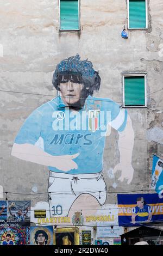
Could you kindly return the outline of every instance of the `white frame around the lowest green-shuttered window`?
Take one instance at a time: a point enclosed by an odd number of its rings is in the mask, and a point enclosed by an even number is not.
[[[124,78],[131,76],[144,76],[145,77],[145,105],[144,106],[125,106],[124,98]],[[147,107],[147,72],[142,73],[123,73],[123,106],[124,108],[144,108]]]

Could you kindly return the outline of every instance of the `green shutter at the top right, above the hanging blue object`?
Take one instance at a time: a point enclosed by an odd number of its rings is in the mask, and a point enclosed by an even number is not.
[[[129,0],[129,28],[146,27],[146,0]]]

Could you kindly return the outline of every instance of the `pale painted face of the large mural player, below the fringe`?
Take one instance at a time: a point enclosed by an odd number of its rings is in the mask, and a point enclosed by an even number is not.
[[[82,97],[83,84],[68,81],[67,83],[60,84],[60,92],[62,100],[68,106],[80,107],[80,98]]]

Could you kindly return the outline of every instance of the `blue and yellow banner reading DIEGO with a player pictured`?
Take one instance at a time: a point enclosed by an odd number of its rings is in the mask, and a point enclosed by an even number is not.
[[[158,194],[118,194],[120,226],[139,226],[163,221],[163,199]]]

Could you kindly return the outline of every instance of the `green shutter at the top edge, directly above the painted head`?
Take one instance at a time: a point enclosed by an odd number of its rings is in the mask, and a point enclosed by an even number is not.
[[[79,30],[78,0],[60,0],[60,30]]]

